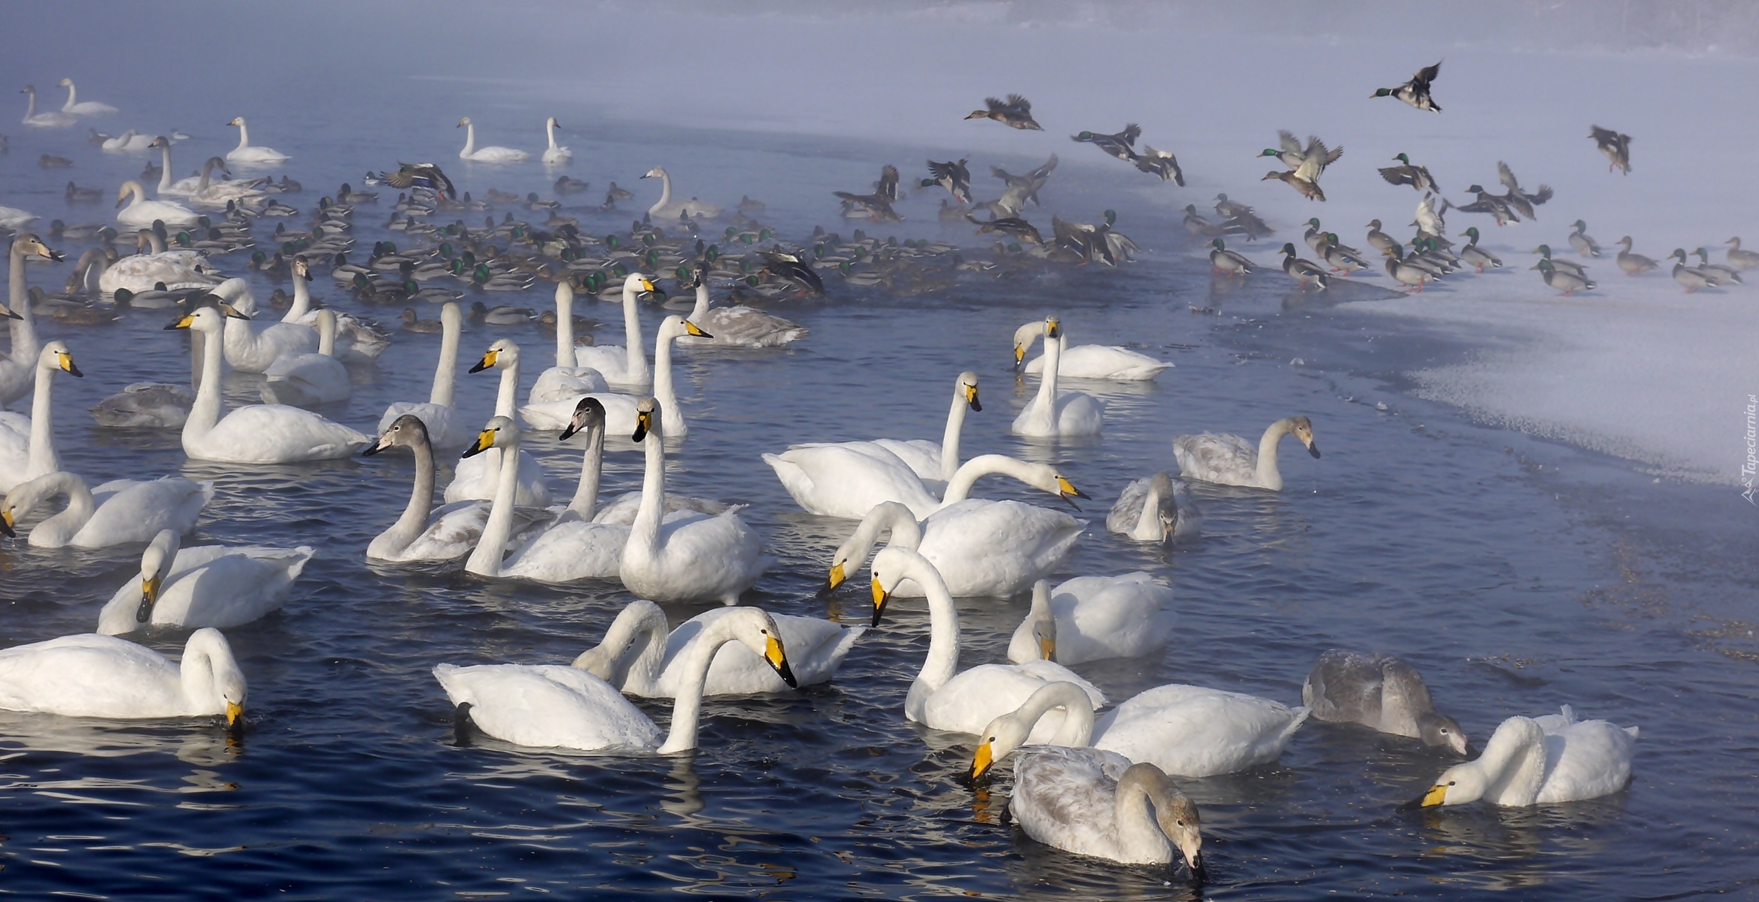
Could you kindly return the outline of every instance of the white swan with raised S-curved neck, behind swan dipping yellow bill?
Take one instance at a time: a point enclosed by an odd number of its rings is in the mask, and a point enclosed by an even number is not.
[[[911,549],[892,547],[874,556],[874,626],[880,626],[894,591],[906,580],[920,586],[929,598],[929,656],[904,696],[904,717],[909,721],[936,730],[976,733],[999,714],[1018,709],[1047,682],[1071,682],[1087,693],[1092,707],[1105,705],[1099,689],[1050,661],[978,665],[960,673],[959,605],[934,564]],[[1036,740],[1050,740],[1061,723],[1061,717],[1047,716],[1034,733]]]

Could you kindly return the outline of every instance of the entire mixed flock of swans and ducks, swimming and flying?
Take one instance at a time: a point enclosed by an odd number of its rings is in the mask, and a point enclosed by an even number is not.
[[[1398,97],[1416,109],[1439,111],[1428,67],[1398,88],[1376,97]],[[70,81],[60,113],[35,113],[35,93],[25,125],[65,128],[79,116],[113,113],[76,104]],[[973,120],[1011,128],[1041,130],[1031,104],[1011,95],[990,98]],[[281,176],[230,179],[229,164],[276,165],[285,155],[250,144],[243,118],[239,146],[213,158],[193,181],[172,181],[171,137],[153,137],[158,199],[148,199],[144,181],[128,181],[118,195],[127,202],[116,222],[137,241],[134,255],[120,255],[121,237],[109,225],[70,227],[56,222],[49,239],[19,230],[11,243],[9,304],[11,355],[0,360],[0,403],[32,397],[30,415],[0,413],[0,529],[25,533],[33,547],[118,549],[141,552],[137,580],[116,589],[97,617],[97,631],[0,651],[0,707],[81,717],[211,717],[239,724],[246,703],[245,673],[220,629],[264,617],[288,598],[311,547],[183,547],[215,487],[181,476],[113,480],[100,485],[62,468],[53,441],[53,385],[83,378],[69,341],[39,341],[35,316],[63,324],[102,322],[127,309],[165,309],[165,329],[192,336],[190,383],[135,383],[93,408],[106,427],[179,429],[193,461],[229,466],[290,464],[406,450],[415,461],[408,506],[364,549],[383,563],[463,561],[463,570],[491,580],[621,580],[637,596],[605,628],[603,640],[572,663],[436,663],[433,673],[447,700],[484,733],[517,746],[591,751],[679,753],[697,746],[704,696],[781,693],[834,679],[864,628],[844,628],[820,617],[783,615],[739,607],[774,563],[765,542],[739,515],[739,506],[677,492],[668,485],[667,455],[688,434],[686,408],[672,376],[679,348],[781,348],[807,338],[806,329],[763,309],[742,304],[714,306],[711,287],[732,285],[735,301],[786,301],[823,294],[827,276],[851,285],[888,285],[899,292],[948,285],[948,271],[1001,274],[1043,260],[1117,266],[1135,243],[1112,227],[1108,211],[1099,225],[1054,220],[1045,241],[1022,216],[1036,202],[1057,160],[1025,176],[996,169],[1006,192],[994,202],[973,202],[967,160],[929,164],[922,186],[943,186],[955,202],[952,222],[969,220],[980,234],[997,232],[990,258],[971,258],[948,243],[880,241],[860,230],[853,239],[814,230],[785,250],[774,230],[756,216],[763,206],[742,199],[725,211],[712,204],[674,197],[670,174],[653,169],[644,178],[661,183],[660,200],[626,232],[591,236],[577,218],[563,216],[556,200],[535,193],[493,197],[459,195],[442,167],[399,164],[368,174],[366,188],[343,185],[318,202],[311,227],[292,230],[283,222],[264,236],[257,222],[288,216],[278,200],[301,190]],[[466,128],[461,158],[471,162],[526,162],[533,155],[510,148],[477,146],[475,123]],[[544,164],[565,165],[568,148],[556,144],[558,121],[549,118]],[[1601,132],[1597,128],[1597,132]],[[1084,130],[1112,156],[1135,164],[1163,181],[1184,185],[1171,153],[1138,153],[1140,127],[1120,134]],[[137,135],[135,135],[137,137]],[[130,139],[132,141],[132,139]],[[1597,139],[1608,156],[1629,171],[1629,137]],[[1608,144],[1609,142],[1609,144]],[[1615,153],[1617,151],[1617,153]],[[1300,144],[1284,132],[1281,149],[1265,149],[1288,167],[1272,172],[1302,195],[1323,200],[1319,178],[1342,148],[1319,139]],[[1369,241],[1388,260],[1388,273],[1420,290],[1458,266],[1479,271],[1500,266],[1471,244],[1451,253],[1441,218],[1446,200],[1430,172],[1398,156],[1383,169],[1388,183],[1425,193],[1418,207],[1418,234],[1398,241],[1376,222]],[[1551,192],[1525,192],[1506,167],[1504,195],[1474,186],[1478,200],[1455,209],[1488,213],[1499,223],[1532,216]],[[218,174],[218,178],[216,178]],[[419,248],[378,243],[364,264],[348,262],[352,218],[375,204],[368,188],[389,186],[398,195],[387,223]],[[851,220],[897,218],[899,172],[885,167],[869,193],[837,192]],[[74,186],[70,186],[72,190]],[[556,193],[577,193],[586,183],[561,176]],[[633,195],[607,192],[598,211],[616,211]],[[188,200],[185,206],[179,200]],[[491,209],[491,204],[545,213],[544,222],[487,218],[482,229],[452,213]],[[943,202],[943,207],[948,204]],[[4,207],[0,207],[4,209]],[[209,213],[197,213],[206,209]],[[987,209],[989,220],[974,211]],[[1186,227],[1212,239],[1210,260],[1223,273],[1251,273],[1251,260],[1226,248],[1226,237],[1256,239],[1272,229],[1242,204],[1221,195],[1221,220],[1187,207]],[[297,213],[297,211],[296,211]],[[730,218],[723,232],[711,222]],[[23,229],[30,220],[9,220]],[[700,237],[698,237],[700,236]],[[705,237],[714,237],[709,244]],[[1010,241],[1011,239],[1011,241]],[[1332,274],[1367,269],[1365,258],[1339,243],[1335,232],[1309,220],[1307,244],[1325,266],[1298,258],[1284,244],[1284,271],[1302,285],[1323,288]],[[49,295],[28,285],[28,264],[62,260],[49,241],[91,244],[69,288]],[[725,248],[721,246],[725,243]],[[758,243],[774,243],[756,250]],[[1731,269],[1754,266],[1738,241]],[[1411,253],[1405,253],[1405,248]],[[1597,244],[1576,223],[1571,246],[1594,255]],[[1655,262],[1639,258],[1622,269],[1638,274]],[[294,294],[276,292],[259,302],[245,278],[227,278],[222,260],[250,251],[248,269],[290,278]],[[1541,248],[1544,251],[1544,248]],[[1683,251],[1676,251],[1682,258]],[[376,429],[364,433],[334,422],[317,410],[348,397],[350,366],[375,366],[390,332],[366,315],[320,306],[310,281],[329,267],[338,288],[362,306],[436,302],[438,322],[413,308],[403,315],[412,332],[438,332],[440,348],[429,396],[390,404]],[[1537,264],[1553,287],[1592,287],[1580,267],[1546,258]],[[1712,276],[1703,267],[1689,267]],[[663,276],[665,274],[665,276]],[[661,281],[675,278],[688,301],[675,306],[649,336],[642,329],[644,301],[665,299]],[[1680,267],[1675,271],[1680,280]],[[1569,281],[1576,280],[1576,281]],[[536,318],[514,306],[471,313],[461,308],[464,292],[524,290],[554,283],[554,364],[526,389],[522,348],[510,338],[471,355],[470,373],[494,373],[498,392],[493,415],[461,410],[454,385],[461,360],[463,324],[468,316],[491,324]],[[1580,285],[1578,285],[1580,281]],[[1682,283],[1690,290],[1692,285]],[[450,287],[449,287],[450,285]],[[1574,285],[1574,288],[1571,288]],[[575,316],[580,294],[616,301],[623,309],[623,345],[579,343],[577,331],[591,324]],[[285,304],[278,320],[264,306]],[[97,311],[74,313],[74,311]],[[549,315],[551,311],[545,311]],[[99,316],[88,320],[81,316]],[[266,322],[267,320],[267,322]],[[649,360],[647,346],[653,343]],[[1027,360],[1043,341],[1040,357]],[[74,341],[77,343],[77,341]],[[1071,390],[1069,382],[1154,380],[1170,364],[1108,345],[1071,345],[1059,316],[1034,318],[1013,332],[1011,350],[1025,375],[1036,375],[1038,392],[1015,417],[1011,431],[1029,438],[1096,436],[1113,415],[1094,396]],[[549,364],[551,360],[544,360]],[[262,373],[262,404],[227,410],[220,396],[225,367]],[[969,733],[974,751],[969,774],[983,779],[1015,754],[1011,807],[1015,821],[1034,839],[1082,855],[1131,863],[1186,862],[1201,874],[1201,833],[1196,805],[1170,777],[1207,777],[1275,761],[1309,717],[1356,723],[1391,735],[1412,737],[1449,754],[1471,756],[1467,733],[1439,714],[1411,663],[1386,654],[1326,651],[1312,666],[1302,703],[1258,698],[1201,686],[1170,684],[1138,693],[1110,710],[1101,693],[1071,665],[1106,658],[1138,658],[1166,647],[1173,628],[1171,587],[1150,573],[1080,575],[1061,584],[1048,577],[1069,557],[1084,522],[1048,506],[1011,499],[974,498],[976,484],[1003,476],[1055,496],[1085,498],[1055,466],[985,454],[960,459],[967,411],[982,410],[978,378],[959,373],[950,392],[945,434],[874,438],[865,441],[806,443],[777,448],[762,459],[806,512],[851,520],[846,542],[827,563],[825,589],[851,578],[871,557],[872,626],[880,626],[894,598],[925,598],[931,617],[927,658],[911,682],[904,716],[936,730]],[[524,403],[521,403],[524,390]],[[945,396],[943,396],[945,397]],[[480,426],[478,426],[480,424]],[[561,503],[545,469],[522,448],[522,434],[558,431],[563,441],[580,436],[582,455],[573,496]],[[646,455],[642,485],[603,501],[602,464],[607,434],[630,436]],[[1106,517],[1117,542],[1177,542],[1201,529],[1187,480],[1281,491],[1279,447],[1298,441],[1319,457],[1307,417],[1270,424],[1254,441],[1233,434],[1189,434],[1171,441],[1179,478],[1152,473],[1126,485]],[[434,503],[440,455],[461,454],[450,484]],[[63,510],[35,519],[51,499]],[[960,670],[960,624],[955,598],[1010,598],[1031,593],[1027,617],[1011,635],[1008,663]],[[723,601],[726,607],[670,624],[658,603]],[[179,663],[121,636],[142,629],[192,629]],[[672,698],[670,724],[661,730],[626,696]],[[1532,805],[1592,798],[1618,791],[1631,774],[1636,728],[1606,721],[1578,721],[1569,707],[1543,717],[1509,717],[1483,751],[1446,768],[1414,804],[1456,805],[1488,800]]]

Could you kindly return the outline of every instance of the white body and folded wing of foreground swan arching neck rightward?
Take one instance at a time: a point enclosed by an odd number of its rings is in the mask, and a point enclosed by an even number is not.
[[[653,749],[660,728],[605,680],[572,666],[434,666],[454,705],[494,738],[568,749]]]

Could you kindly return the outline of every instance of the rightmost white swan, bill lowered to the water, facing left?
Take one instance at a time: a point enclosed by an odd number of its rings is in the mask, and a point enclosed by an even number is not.
[[[1418,804],[1483,798],[1492,805],[1550,805],[1599,798],[1631,782],[1636,742],[1636,726],[1576,721],[1569,705],[1562,714],[1509,717],[1485,742],[1485,754],[1444,770]]]

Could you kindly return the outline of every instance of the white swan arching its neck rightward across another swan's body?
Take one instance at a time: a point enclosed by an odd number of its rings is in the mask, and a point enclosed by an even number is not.
[[[758,608],[734,608],[714,621],[682,666],[684,691],[672,703],[672,726],[660,728],[609,682],[561,665],[434,666],[434,679],[452,705],[470,705],[471,723],[484,733],[517,746],[565,749],[640,749],[672,754],[697,747],[702,686],[721,645],[739,642],[762,656],[792,682],[788,656],[776,621]]]

